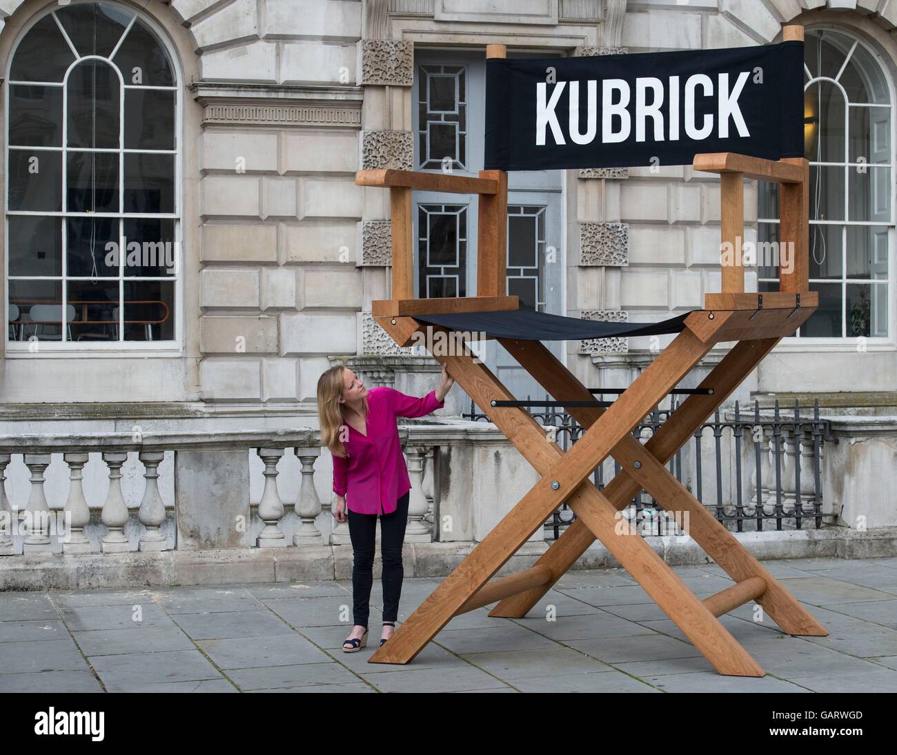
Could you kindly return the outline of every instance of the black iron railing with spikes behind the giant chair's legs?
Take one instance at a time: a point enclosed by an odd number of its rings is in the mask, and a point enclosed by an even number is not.
[[[527,396],[530,401],[544,403]],[[647,442],[682,401],[674,399],[670,409],[655,409],[632,430],[632,435]],[[555,428],[557,443],[565,451],[585,431],[570,414],[554,407],[531,413],[544,427]],[[823,443],[832,440],[829,421],[820,418],[818,400],[814,401],[812,416],[802,416],[797,401],[788,413],[790,416],[781,411],[778,399],[771,412],[762,412],[759,401],[754,401],[753,412],[745,413],[736,402],[727,412],[730,419],[714,412],[712,421],[695,430],[693,443],[684,444],[666,466],[730,530],[818,528],[823,524]],[[462,416],[489,420],[473,400],[470,413]],[[592,482],[602,490],[619,472],[620,464],[605,459],[592,473]],[[631,500],[622,516],[641,534],[687,532],[682,516],[664,512],[644,490]],[[545,522],[546,536],[557,539],[574,518],[564,503]]]

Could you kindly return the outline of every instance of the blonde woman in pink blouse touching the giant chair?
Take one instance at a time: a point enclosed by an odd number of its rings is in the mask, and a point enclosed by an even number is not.
[[[343,643],[355,653],[368,643],[374,540],[380,517],[383,558],[383,632],[380,646],[392,636],[402,592],[402,542],[408,521],[411,481],[398,439],[396,417],[422,417],[445,405],[455,380],[442,365],[440,386],[422,398],[395,388],[368,390],[343,364],[318,378],[321,442],[333,455],[337,522],[349,522],[353,548],[352,632]]]

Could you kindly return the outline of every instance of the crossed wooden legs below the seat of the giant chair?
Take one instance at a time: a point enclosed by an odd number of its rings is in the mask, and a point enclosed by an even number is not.
[[[788,634],[828,634],[664,466],[779,338],[793,332],[813,310],[814,307],[755,310],[749,324],[745,324],[744,316],[751,313],[692,313],[684,331],[609,408],[567,408],[588,430],[566,453],[546,438],[545,430],[524,409],[490,406],[493,399],[513,400],[514,396],[466,347],[464,353],[456,355],[435,353],[434,357],[448,364],[449,373],[476,404],[488,407],[490,420],[533,464],[542,479],[405,620],[389,642],[370,657],[370,662],[406,664],[454,616],[495,601],[500,602],[490,616],[526,615],[596,538],[718,673],[735,676],[765,673],[717,618],[750,600],[760,603]],[[409,342],[424,326],[413,317],[378,317],[378,320],[400,344]],[[435,329],[433,325],[426,326]],[[744,332],[745,327],[771,335],[739,341],[701,383],[701,388],[712,388],[713,393],[690,395],[642,446],[631,430],[714,343],[734,340],[732,334]],[[588,389],[543,343],[517,339],[499,339],[499,343],[559,401],[592,399]],[[598,490],[588,475],[609,455],[623,469],[604,490]],[[666,510],[689,513],[689,534],[736,580],[735,586],[701,600],[639,534],[619,534],[618,512],[642,488]],[[490,582],[564,501],[577,518],[536,565]]]

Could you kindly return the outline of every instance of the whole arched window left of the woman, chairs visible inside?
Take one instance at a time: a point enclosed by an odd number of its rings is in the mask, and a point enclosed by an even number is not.
[[[122,5],[57,6],[7,81],[10,351],[179,340],[180,103],[161,39]]]

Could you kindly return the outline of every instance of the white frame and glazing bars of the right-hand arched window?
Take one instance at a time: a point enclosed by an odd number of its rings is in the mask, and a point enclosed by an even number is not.
[[[895,228],[895,214],[897,214],[897,210],[895,210],[894,203],[897,201],[897,178],[895,178],[895,169],[897,169],[897,143],[895,143],[895,136],[897,136],[897,124],[895,124],[895,120],[897,120],[897,103],[895,103],[895,89],[894,89],[894,78],[893,78],[893,69],[890,65],[887,65],[883,56],[875,49],[875,47],[871,44],[868,44],[864,39],[860,38],[856,32],[853,30],[846,29],[840,26],[829,26],[829,25],[820,25],[808,27],[808,30],[823,30],[823,31],[837,31],[840,34],[849,37],[849,39],[853,39],[853,45],[850,47],[847,56],[845,57],[843,63],[840,66],[838,74],[834,79],[827,76],[812,76],[810,74],[810,70],[807,65],[804,65],[804,73],[806,78],[806,83],[804,85],[804,91],[807,90],[808,87],[813,85],[815,82],[823,81],[833,83],[835,86],[839,87],[841,93],[844,96],[844,118],[845,118],[845,127],[844,127],[844,162],[815,162],[810,161],[811,165],[818,165],[820,167],[833,166],[833,167],[843,167],[845,170],[845,184],[844,184],[844,219],[840,221],[811,221],[811,224],[816,225],[841,225],[844,227],[842,232],[842,249],[841,254],[846,259],[847,255],[847,244],[846,244],[846,234],[847,228],[849,226],[854,227],[864,227],[864,226],[888,226],[888,280],[886,283],[871,283],[870,285],[882,285],[887,291],[887,303],[888,303],[888,335],[887,336],[801,336],[798,337],[796,335],[791,335],[786,338],[783,338],[779,342],[779,346],[777,350],[779,351],[807,351],[808,349],[812,349],[812,351],[857,351],[858,346],[862,343],[864,349],[866,351],[894,351],[895,346],[897,346],[897,317],[895,317],[895,309],[897,307],[894,306],[894,295],[897,288],[895,288],[894,283],[894,264],[895,264],[895,247],[897,247],[897,228]],[[858,162],[850,162],[850,145],[849,145],[849,108],[850,108],[850,100],[847,96],[847,92],[844,91],[843,87],[838,82],[840,79],[840,75],[843,74],[847,65],[850,61],[851,56],[853,56],[854,51],[858,48],[858,46],[862,46],[867,53],[873,57],[875,62],[880,66],[882,73],[884,74],[885,81],[887,82],[888,87],[888,96],[890,98],[890,102],[887,105],[874,105],[872,107],[881,107],[881,108],[891,108],[891,161],[889,163],[875,163],[881,168],[890,168],[891,169],[891,219],[889,222],[882,221],[851,221],[849,219],[849,182],[847,171],[850,169],[856,169],[861,163]],[[862,103],[853,103],[854,106]],[[870,168],[875,169],[875,168]],[[759,213],[758,213],[759,214]],[[778,218],[761,218],[758,216],[758,231],[760,223],[771,223],[778,225]],[[844,292],[847,285],[849,285],[850,281],[845,280],[846,268],[842,269],[841,273],[841,307],[844,306]],[[778,279],[772,278],[759,278],[758,276],[758,284],[760,282],[775,282]],[[814,283],[834,283],[837,281],[833,280],[824,280],[824,281],[814,281],[810,280],[810,290],[813,290]],[[865,282],[864,280],[857,282]],[[758,286],[759,287],[759,286]],[[842,310],[843,311],[843,310]]]

